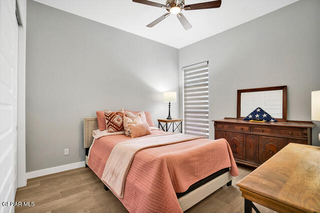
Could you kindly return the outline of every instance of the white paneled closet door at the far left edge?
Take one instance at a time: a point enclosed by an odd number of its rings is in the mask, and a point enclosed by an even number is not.
[[[15,0],[0,0],[0,201],[13,202],[17,162],[17,52]],[[0,205],[0,213],[14,212]]]

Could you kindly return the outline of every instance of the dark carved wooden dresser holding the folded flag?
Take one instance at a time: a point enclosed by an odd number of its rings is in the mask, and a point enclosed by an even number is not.
[[[254,123],[236,119],[214,121],[214,139],[224,138],[235,162],[258,167],[289,143],[311,145],[312,122]]]

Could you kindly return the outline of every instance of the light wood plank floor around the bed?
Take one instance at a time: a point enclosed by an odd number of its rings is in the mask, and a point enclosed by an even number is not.
[[[244,200],[235,184],[253,171],[238,165],[239,176],[232,186],[218,189],[189,209],[188,213],[243,213]],[[34,207],[16,207],[22,213],[121,213],[127,212],[89,168],[79,168],[27,180],[18,188],[16,202],[34,202]],[[256,205],[261,213],[273,213]]]

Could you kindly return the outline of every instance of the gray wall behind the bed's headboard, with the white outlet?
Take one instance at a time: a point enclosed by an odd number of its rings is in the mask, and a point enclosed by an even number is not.
[[[31,0],[27,26],[26,172],[84,161],[82,120],[96,110],[167,116],[177,49]]]

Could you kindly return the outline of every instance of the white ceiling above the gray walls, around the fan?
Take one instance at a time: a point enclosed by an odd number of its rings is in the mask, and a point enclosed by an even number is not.
[[[152,28],[148,23],[167,12],[131,0],[35,0],[40,3],[181,48],[297,0],[222,0],[220,8],[182,11],[192,24],[185,31],[174,14]],[[153,0],[165,3],[165,0]],[[185,0],[186,4],[210,0]]]

